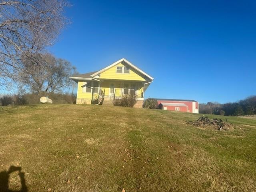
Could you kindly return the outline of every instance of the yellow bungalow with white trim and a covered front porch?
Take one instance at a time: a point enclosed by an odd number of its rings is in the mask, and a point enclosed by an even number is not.
[[[102,70],[70,78],[78,84],[76,104],[113,105],[115,99],[135,94],[134,107],[142,107],[144,92],[154,79],[125,58]]]

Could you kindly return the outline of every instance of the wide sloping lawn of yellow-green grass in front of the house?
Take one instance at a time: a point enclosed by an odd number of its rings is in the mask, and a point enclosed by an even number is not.
[[[0,108],[0,191],[256,191],[256,120],[197,128],[200,114],[90,105]],[[222,118],[223,116],[209,116]],[[6,176],[9,178],[6,178]],[[1,178],[2,177],[2,178]]]

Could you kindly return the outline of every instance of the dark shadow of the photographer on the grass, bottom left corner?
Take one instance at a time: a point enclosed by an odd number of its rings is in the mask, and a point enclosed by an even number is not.
[[[18,176],[20,177],[20,182],[21,182],[20,190],[9,189],[9,177],[10,177],[10,174],[13,172],[18,172]],[[28,192],[24,172],[21,172],[21,167],[10,166],[8,171],[0,172],[0,192]]]

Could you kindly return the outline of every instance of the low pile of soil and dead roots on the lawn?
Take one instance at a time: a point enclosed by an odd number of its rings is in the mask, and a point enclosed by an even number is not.
[[[188,124],[192,124],[197,127],[209,127],[217,130],[231,130],[234,129],[234,125],[222,121],[222,119],[209,119],[207,116],[201,116],[196,121],[188,121]]]

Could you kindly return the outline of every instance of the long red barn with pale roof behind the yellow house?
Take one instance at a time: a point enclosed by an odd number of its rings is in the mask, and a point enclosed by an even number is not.
[[[158,107],[162,110],[198,113],[198,102],[184,99],[156,99]]]

